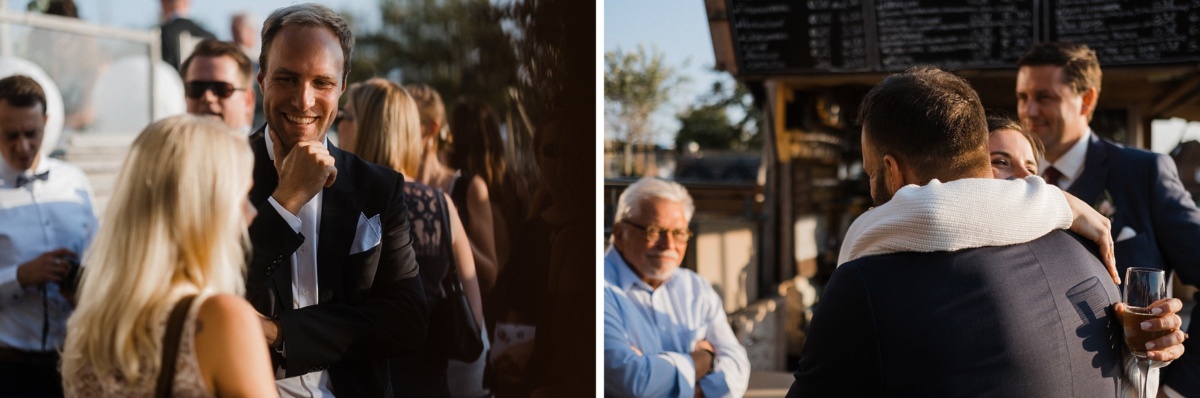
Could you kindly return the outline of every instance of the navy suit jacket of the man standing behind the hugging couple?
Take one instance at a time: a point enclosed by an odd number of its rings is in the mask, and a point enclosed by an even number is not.
[[[1170,157],[1092,134],[1084,174],[1067,191],[1090,204],[1100,201],[1108,192],[1116,207],[1114,240],[1127,227],[1136,233],[1133,239],[1116,242],[1122,278],[1126,269],[1139,266],[1176,271],[1183,282],[1200,284],[1200,210],[1180,182]],[[1198,319],[1200,307],[1192,310],[1192,325]],[[1164,384],[1184,396],[1200,397],[1200,339],[1184,342],[1183,356],[1163,375]]]

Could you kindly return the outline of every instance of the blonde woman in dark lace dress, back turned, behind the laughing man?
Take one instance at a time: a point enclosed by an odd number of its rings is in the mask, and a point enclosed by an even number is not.
[[[421,125],[416,103],[400,85],[374,78],[350,85],[338,134],[350,138],[344,147],[367,162],[383,164],[404,175],[404,203],[413,225],[413,252],[421,265],[421,283],[430,304],[430,318],[449,308],[442,282],[455,265],[462,290],[467,295],[475,322],[484,325],[484,304],[479,293],[475,260],[467,231],[450,197],[442,189],[412,180],[420,168]],[[343,140],[343,143],[347,143]],[[450,223],[450,233],[443,221]],[[450,236],[446,241],[444,237]],[[432,325],[431,325],[432,327]],[[451,362],[440,350],[439,339],[449,331],[430,330],[425,346],[412,356],[390,362],[395,391],[412,397],[486,396],[482,390],[485,342],[480,357],[470,364]]]

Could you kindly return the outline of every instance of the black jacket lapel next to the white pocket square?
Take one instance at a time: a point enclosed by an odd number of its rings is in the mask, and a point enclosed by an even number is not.
[[[320,240],[317,242],[318,301],[332,298],[335,288],[342,284],[342,272],[350,253],[362,206],[358,203],[354,182],[347,164],[349,153],[329,146],[329,153],[337,167],[337,180],[325,188],[320,204]]]

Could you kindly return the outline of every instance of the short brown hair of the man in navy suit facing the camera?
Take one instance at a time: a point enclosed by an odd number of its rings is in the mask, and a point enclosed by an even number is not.
[[[1062,67],[1062,76],[1066,84],[1070,85],[1075,94],[1084,94],[1090,88],[1096,89],[1097,96],[1100,94],[1100,61],[1096,58],[1096,52],[1087,44],[1046,42],[1033,46],[1028,53],[1021,55],[1018,66],[1043,66],[1054,65]],[[1094,107],[1092,108],[1096,109]]]

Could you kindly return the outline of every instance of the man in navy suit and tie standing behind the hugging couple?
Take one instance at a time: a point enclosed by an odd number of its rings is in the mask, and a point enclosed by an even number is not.
[[[1016,108],[1045,144],[1040,174],[1112,221],[1121,275],[1132,266],[1175,271],[1200,283],[1200,210],[1170,157],[1100,139],[1088,127],[1100,64],[1085,44],[1042,43],[1019,61]],[[1200,307],[1192,312],[1192,324]],[[1164,384],[1200,396],[1200,344],[1166,368]]]

